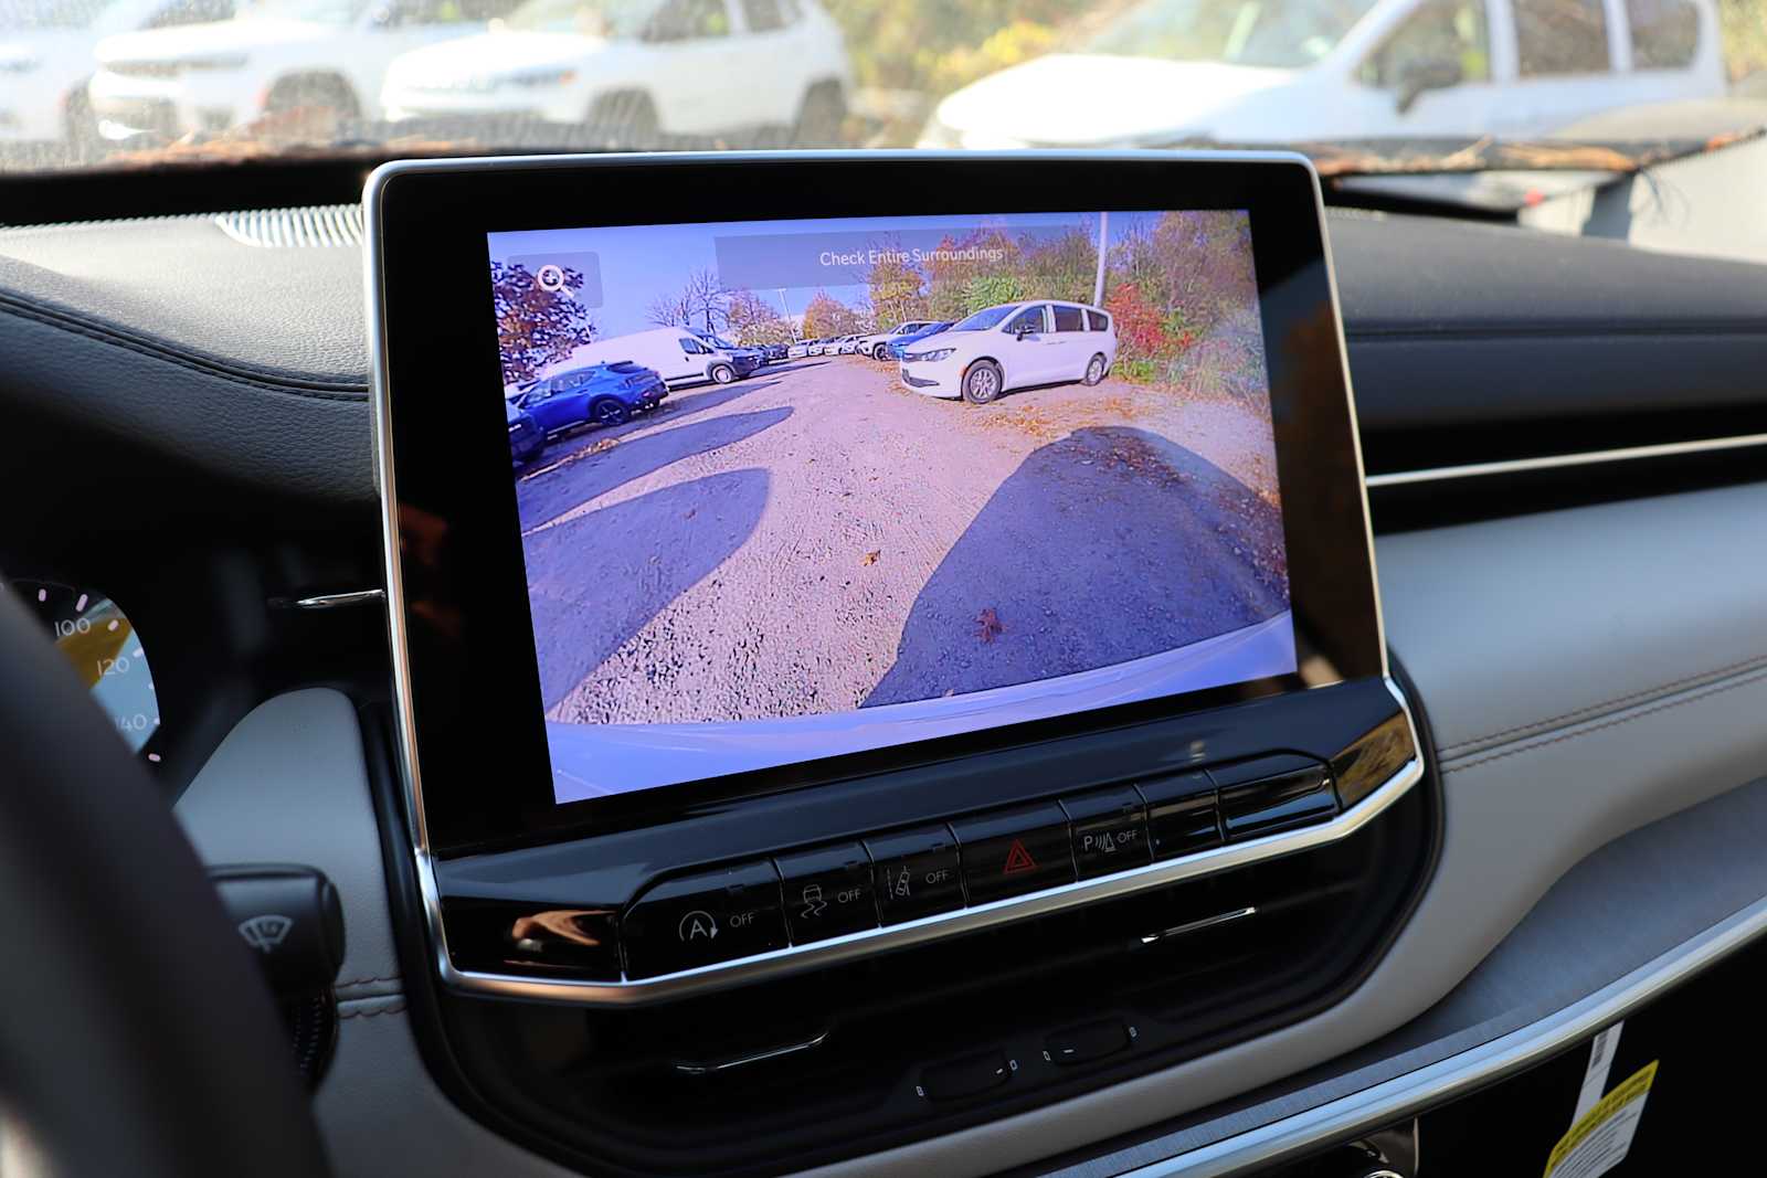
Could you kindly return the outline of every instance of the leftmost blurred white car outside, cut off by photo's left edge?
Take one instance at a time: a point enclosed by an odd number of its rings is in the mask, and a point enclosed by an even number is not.
[[[99,41],[233,16],[233,0],[39,0],[0,5],[0,141],[90,143]]]

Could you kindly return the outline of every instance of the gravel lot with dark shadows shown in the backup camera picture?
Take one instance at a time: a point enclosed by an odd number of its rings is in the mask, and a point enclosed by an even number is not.
[[[937,401],[862,357],[677,392],[518,482],[548,719],[841,712],[1269,618],[1269,429],[1117,378]]]

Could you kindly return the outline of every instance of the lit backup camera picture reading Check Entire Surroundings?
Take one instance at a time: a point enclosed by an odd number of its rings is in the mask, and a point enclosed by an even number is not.
[[[489,260],[558,802],[1295,671],[1246,212]]]

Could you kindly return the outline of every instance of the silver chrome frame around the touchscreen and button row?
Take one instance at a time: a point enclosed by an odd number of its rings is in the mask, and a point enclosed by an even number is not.
[[[656,162],[709,162],[709,161],[767,161],[767,159],[797,159],[804,154],[792,152],[719,152],[705,155],[597,155],[594,157],[594,166],[597,168],[617,168],[629,164],[656,164]],[[1037,159],[1050,159],[1051,152],[818,152],[818,157],[845,157],[845,159],[878,159],[896,155],[901,159],[928,159],[928,157],[951,157],[961,161],[977,159],[1021,159],[1034,155]],[[1332,270],[1331,260],[1331,238],[1325,230],[1325,205],[1320,194],[1318,173],[1315,171],[1311,161],[1304,155],[1295,155],[1292,152],[1087,152],[1083,155],[1087,161],[1097,159],[1124,159],[1124,161],[1216,161],[1230,159],[1239,162],[1281,162],[1281,164],[1299,164],[1308,170],[1313,177],[1315,193],[1315,212],[1320,224],[1320,242],[1323,245],[1323,261],[1327,286],[1332,300],[1332,313],[1338,320],[1338,348],[1339,359],[1343,360],[1343,381],[1345,397],[1348,401],[1352,440],[1355,442],[1355,464],[1357,473],[1362,473],[1362,449],[1361,438],[1355,433],[1355,399],[1350,396],[1350,371],[1348,371],[1348,348],[1343,339],[1343,311],[1338,306],[1338,283]],[[532,1001],[564,1001],[564,1003],[590,1003],[590,1005],[638,1005],[648,1001],[661,1001],[666,998],[679,998],[684,994],[698,994],[712,989],[723,989],[730,985],[740,985],[746,982],[755,982],[769,977],[785,977],[790,973],[799,973],[804,970],[823,968],[841,961],[850,961],[866,954],[882,952],[889,948],[901,948],[908,945],[919,945],[940,936],[968,933],[975,929],[984,929],[1009,920],[1023,920],[1028,917],[1037,917],[1043,913],[1057,911],[1062,908],[1073,908],[1078,904],[1090,904],[1103,899],[1111,899],[1117,895],[1127,895],[1145,888],[1163,887],[1180,880],[1193,880],[1205,874],[1214,874],[1219,871],[1230,871],[1233,867],[1242,867],[1258,860],[1276,858],[1281,855],[1293,855],[1297,851],[1306,851],[1339,839],[1354,835],[1357,830],[1366,827],[1369,821],[1378,818],[1389,805],[1398,802],[1405,793],[1417,784],[1424,775],[1424,765],[1421,754],[1417,752],[1417,724],[1412,717],[1410,703],[1405,694],[1391,678],[1391,668],[1387,666],[1387,643],[1385,643],[1385,620],[1380,613],[1380,593],[1378,593],[1378,576],[1375,578],[1375,625],[1380,638],[1380,664],[1382,678],[1387,691],[1398,701],[1407,728],[1412,736],[1414,756],[1407,761],[1391,779],[1376,786],[1368,797],[1362,798],[1352,811],[1338,814],[1331,821],[1304,827],[1301,830],[1290,830],[1283,834],[1265,835],[1262,839],[1248,839],[1246,842],[1233,842],[1207,851],[1198,851],[1194,855],[1186,855],[1182,858],[1163,860],[1157,864],[1147,864],[1143,867],[1134,867],[1129,871],[1120,871],[1111,876],[1101,876],[1097,880],[1081,880],[1076,883],[1067,883],[1057,888],[1048,888],[1044,892],[1035,892],[1030,895],[1018,895],[1011,899],[993,901],[988,904],[977,904],[972,908],[963,908],[952,913],[940,913],[935,917],[924,917],[921,920],[910,920],[905,924],[896,924],[889,927],[868,929],[862,933],[852,933],[839,938],[830,938],[827,941],[815,941],[811,945],[793,945],[788,948],[774,950],[770,954],[760,954],[755,957],[744,957],[739,961],[719,963],[710,966],[701,966],[698,970],[684,970],[680,973],[670,973],[654,978],[627,980],[627,982],[580,982],[580,980],[557,980],[557,978],[527,978],[502,973],[479,973],[479,971],[461,971],[456,970],[447,952],[447,933],[442,924],[442,901],[436,887],[435,876],[435,858],[429,851],[429,832],[424,819],[422,805],[422,775],[417,766],[417,729],[412,715],[412,683],[410,683],[410,664],[408,664],[408,636],[405,629],[405,611],[399,602],[405,600],[403,579],[399,576],[399,544],[398,544],[398,493],[394,486],[392,472],[392,406],[389,396],[389,367],[387,367],[387,321],[383,307],[383,258],[382,258],[382,210],[380,200],[387,184],[408,171],[484,171],[484,170],[509,170],[509,168],[581,168],[585,157],[581,155],[532,155],[532,157],[491,157],[491,159],[429,159],[429,161],[403,161],[383,164],[376,168],[362,193],[364,205],[364,226],[368,249],[364,251],[364,283],[368,297],[368,343],[371,357],[373,373],[373,401],[375,401],[375,479],[380,486],[380,503],[382,503],[382,549],[387,562],[387,600],[391,608],[387,609],[387,636],[392,646],[392,687],[394,703],[398,710],[398,768],[399,777],[405,784],[405,802],[408,811],[408,819],[412,823],[412,855],[417,865],[417,885],[422,894],[424,913],[429,924],[431,952],[435,954],[436,973],[442,982],[452,989],[481,993],[481,994],[498,994],[505,998],[523,998]],[[1369,572],[1375,572],[1375,542],[1373,528],[1369,525],[1369,507],[1368,491],[1362,489],[1362,526],[1368,537],[1368,560]]]

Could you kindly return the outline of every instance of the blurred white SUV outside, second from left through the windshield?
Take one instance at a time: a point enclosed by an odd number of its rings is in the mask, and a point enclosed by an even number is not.
[[[92,109],[113,138],[226,131],[295,108],[376,118],[392,58],[482,28],[452,0],[242,0],[233,19],[106,37]]]

